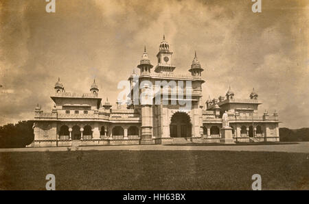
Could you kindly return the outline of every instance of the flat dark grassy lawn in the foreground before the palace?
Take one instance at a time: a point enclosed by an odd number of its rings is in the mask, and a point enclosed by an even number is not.
[[[82,156],[82,160],[77,158]],[[66,151],[0,153],[1,190],[309,190],[305,153],[236,151]]]

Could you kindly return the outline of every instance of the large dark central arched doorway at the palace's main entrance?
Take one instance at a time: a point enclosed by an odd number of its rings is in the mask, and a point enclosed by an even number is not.
[[[184,112],[176,112],[170,121],[171,138],[187,138],[192,136],[190,116]]]

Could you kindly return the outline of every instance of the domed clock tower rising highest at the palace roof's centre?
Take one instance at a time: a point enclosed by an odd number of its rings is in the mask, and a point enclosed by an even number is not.
[[[172,52],[170,51],[170,45],[165,41],[165,36],[159,46],[159,53],[157,54],[158,64],[155,68],[156,73],[171,73],[174,71],[172,66]]]

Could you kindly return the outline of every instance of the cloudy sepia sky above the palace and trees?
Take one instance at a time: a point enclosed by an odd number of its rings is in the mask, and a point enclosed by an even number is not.
[[[67,92],[89,92],[113,102],[117,84],[136,68],[144,45],[152,64],[165,34],[175,72],[187,73],[197,52],[205,71],[203,100],[237,98],[254,87],[280,127],[309,127],[308,1],[251,0],[0,1],[0,125],[34,116],[36,103],[52,109],[60,77]],[[137,71],[137,69],[136,69]]]

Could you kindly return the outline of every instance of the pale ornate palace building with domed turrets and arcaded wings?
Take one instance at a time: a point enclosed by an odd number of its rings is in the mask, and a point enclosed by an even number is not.
[[[117,144],[171,144],[189,142],[222,142],[225,132],[222,115],[227,112],[231,140],[233,142],[279,142],[278,114],[258,115],[258,94],[248,94],[248,99],[237,99],[229,88],[225,97],[208,99],[202,104],[203,68],[194,57],[190,75],[174,74],[170,45],[163,38],[157,54],[155,68],[148,60],[146,49],[137,67],[140,73],[128,77],[131,92],[130,103],[117,103],[99,97],[98,85],[93,84],[89,93],[66,92],[60,79],[54,86],[51,97],[55,105],[52,112],[45,113],[37,105],[34,116],[34,141],[29,146],[87,146]],[[152,71],[154,70],[154,71]],[[138,79],[138,81],[135,81]],[[172,97],[171,88],[145,86],[144,81],[183,82],[185,87],[181,99]],[[181,84],[181,85],[182,85]],[[168,87],[168,86],[166,86]],[[144,92],[149,88],[161,90],[159,103],[138,103],[134,89]],[[176,86],[179,88],[179,86]],[[190,90],[190,92],[187,92]],[[190,96],[189,94],[190,93]],[[155,97],[153,98],[155,100]],[[190,102],[184,107],[183,102]]]

